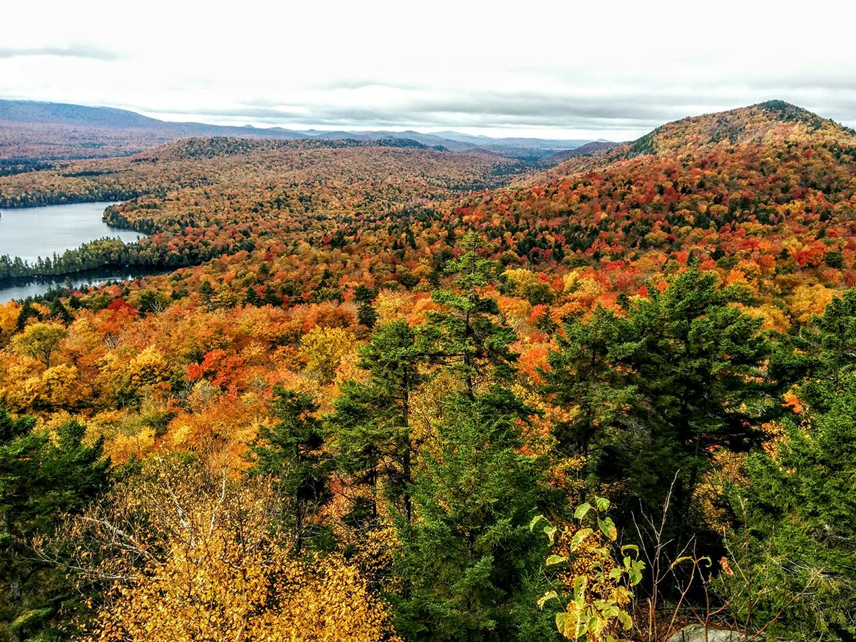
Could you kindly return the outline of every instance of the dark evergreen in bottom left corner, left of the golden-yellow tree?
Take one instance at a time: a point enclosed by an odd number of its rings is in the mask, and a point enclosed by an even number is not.
[[[110,462],[102,443],[86,446],[77,422],[56,436],[33,431],[0,407],[0,639],[67,639],[79,606],[66,574],[39,559],[34,538],[50,538],[65,514],[80,513],[105,490]]]

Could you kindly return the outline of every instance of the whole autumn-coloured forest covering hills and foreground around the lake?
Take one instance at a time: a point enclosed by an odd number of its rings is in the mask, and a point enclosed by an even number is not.
[[[52,273],[175,271],[0,306],[0,639],[856,637],[851,130],[0,177],[95,199],[150,236]]]

